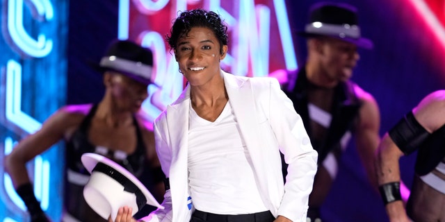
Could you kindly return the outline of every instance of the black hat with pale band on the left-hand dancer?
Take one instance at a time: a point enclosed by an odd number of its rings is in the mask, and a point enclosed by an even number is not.
[[[100,71],[113,70],[148,85],[152,83],[153,53],[130,40],[111,42],[96,65]]]

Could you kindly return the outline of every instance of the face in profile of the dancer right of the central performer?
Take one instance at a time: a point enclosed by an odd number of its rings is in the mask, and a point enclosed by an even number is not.
[[[330,81],[346,81],[351,78],[359,60],[357,46],[331,37],[325,37],[320,42],[320,61],[325,78]]]

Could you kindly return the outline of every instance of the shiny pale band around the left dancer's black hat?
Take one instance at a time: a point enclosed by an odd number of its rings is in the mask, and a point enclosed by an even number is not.
[[[125,71],[136,76],[147,78],[148,80],[152,76],[153,69],[152,66],[145,65],[142,62],[134,62],[116,56],[103,57],[102,60],[100,60],[99,65],[108,69]]]

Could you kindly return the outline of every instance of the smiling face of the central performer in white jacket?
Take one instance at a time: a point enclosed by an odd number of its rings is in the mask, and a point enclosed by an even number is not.
[[[220,60],[225,58],[227,45],[222,47],[210,28],[193,27],[179,37],[175,58],[179,69],[192,86],[204,85],[220,76]]]

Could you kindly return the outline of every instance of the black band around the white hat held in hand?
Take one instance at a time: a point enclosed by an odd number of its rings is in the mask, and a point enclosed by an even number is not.
[[[136,195],[136,205],[138,205],[138,210],[142,209],[142,207],[147,204],[147,198],[142,193],[142,191],[129,180],[126,176],[122,175],[119,171],[115,170],[113,167],[108,166],[102,162],[98,162],[96,167],[92,169],[93,171],[97,171],[100,173],[104,173],[106,176],[113,178],[116,182],[119,182],[120,185],[124,187],[124,191],[129,193],[133,193]]]

